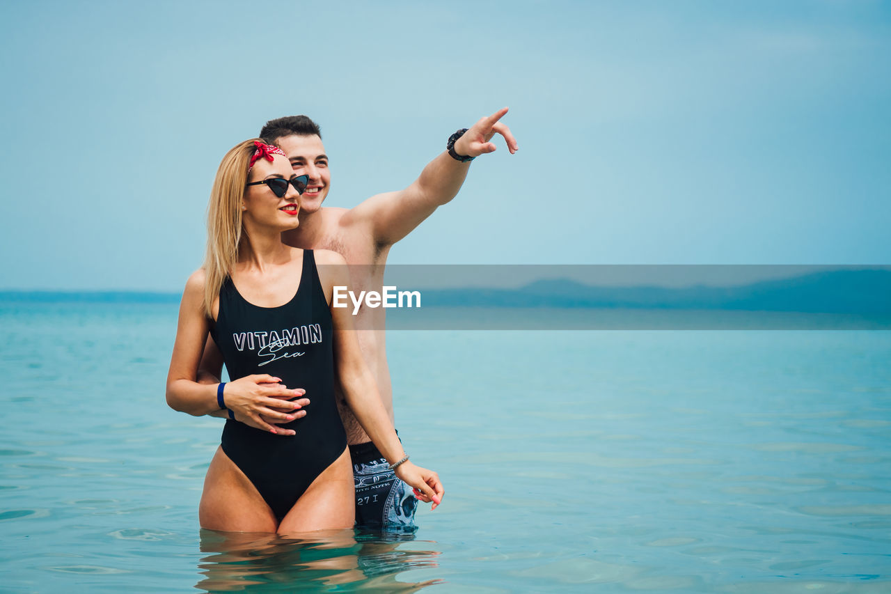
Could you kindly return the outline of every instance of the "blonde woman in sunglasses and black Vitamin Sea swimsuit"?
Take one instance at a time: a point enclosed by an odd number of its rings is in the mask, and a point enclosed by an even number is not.
[[[282,151],[249,140],[226,153],[210,194],[207,258],[185,285],[167,388],[171,408],[229,417],[204,482],[203,528],[294,534],[353,526],[335,365],[347,403],[399,478],[421,500],[442,496],[437,474],[408,461],[396,437],[349,309],[331,308],[333,286],[349,284],[346,266],[316,265],[345,261],[281,241],[298,226],[306,184]],[[236,378],[230,384],[195,381],[208,333]],[[307,419],[285,400],[304,388],[313,402]]]

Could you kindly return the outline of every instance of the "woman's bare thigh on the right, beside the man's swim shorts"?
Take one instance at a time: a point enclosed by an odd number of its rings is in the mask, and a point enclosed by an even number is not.
[[[279,534],[352,528],[356,521],[356,491],[349,449],[315,477],[307,491],[279,524]]]

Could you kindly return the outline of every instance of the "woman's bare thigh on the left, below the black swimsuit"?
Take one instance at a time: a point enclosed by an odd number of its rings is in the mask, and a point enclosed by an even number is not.
[[[198,518],[201,528],[225,532],[275,532],[277,527],[257,487],[222,448],[217,448],[204,478]]]

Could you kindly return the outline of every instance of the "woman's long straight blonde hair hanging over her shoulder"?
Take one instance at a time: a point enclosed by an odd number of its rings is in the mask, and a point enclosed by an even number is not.
[[[248,183],[250,157],[257,150],[251,138],[225,153],[208,202],[208,251],[204,257],[204,311],[212,317],[214,300],[238,261],[238,248],[244,227],[241,199]]]

